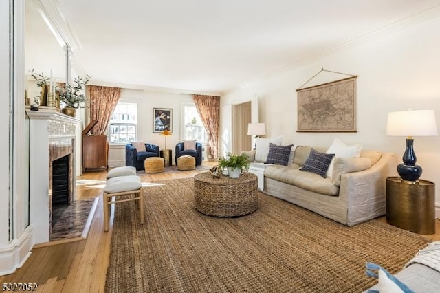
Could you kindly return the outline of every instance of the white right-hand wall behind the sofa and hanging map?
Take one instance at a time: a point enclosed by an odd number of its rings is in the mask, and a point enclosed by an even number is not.
[[[267,137],[284,135],[284,144],[329,146],[334,138],[364,149],[404,153],[405,138],[385,135],[387,113],[411,109],[434,109],[440,131],[440,17],[410,28],[370,37],[369,41],[343,47],[307,65],[289,70],[221,98],[229,105],[243,96],[259,96],[260,122]],[[297,133],[296,89],[321,68],[358,75],[357,133]],[[318,75],[319,77],[319,75]],[[333,80],[347,76],[333,75]],[[311,80],[315,85],[319,78]],[[223,108],[222,108],[223,109]],[[440,184],[440,136],[415,138],[417,164],[422,179]],[[437,211],[440,193],[436,195]]]

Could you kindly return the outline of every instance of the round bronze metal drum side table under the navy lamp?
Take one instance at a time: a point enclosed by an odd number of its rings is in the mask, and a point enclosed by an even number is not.
[[[434,234],[434,182],[386,178],[386,222],[417,234]]]

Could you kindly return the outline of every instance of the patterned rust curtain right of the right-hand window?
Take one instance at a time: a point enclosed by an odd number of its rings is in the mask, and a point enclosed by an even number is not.
[[[209,135],[208,158],[217,159],[219,155],[220,97],[194,95],[193,98],[201,122]]]

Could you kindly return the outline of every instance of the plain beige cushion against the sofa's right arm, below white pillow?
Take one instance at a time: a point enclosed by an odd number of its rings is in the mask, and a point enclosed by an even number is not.
[[[363,171],[369,168],[371,168],[369,158],[336,157],[333,164],[333,175],[329,178],[331,178],[333,184],[340,186],[342,174]]]

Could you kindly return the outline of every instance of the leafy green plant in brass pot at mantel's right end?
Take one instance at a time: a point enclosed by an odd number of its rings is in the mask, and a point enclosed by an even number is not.
[[[57,94],[60,96],[60,101],[64,105],[61,110],[64,114],[75,117],[76,109],[84,108],[86,97],[84,95],[85,85],[89,83],[91,76],[85,78],[74,78],[73,85],[58,86],[56,88]]]

